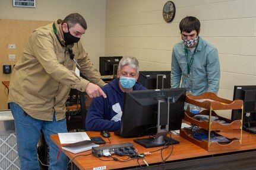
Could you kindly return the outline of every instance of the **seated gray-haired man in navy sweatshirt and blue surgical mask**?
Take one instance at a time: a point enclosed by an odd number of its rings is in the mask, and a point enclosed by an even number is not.
[[[124,92],[147,89],[137,82],[138,60],[123,57],[118,65],[118,78],[102,87],[107,98],[97,97],[91,102],[86,116],[86,130],[115,131],[121,129]]]

